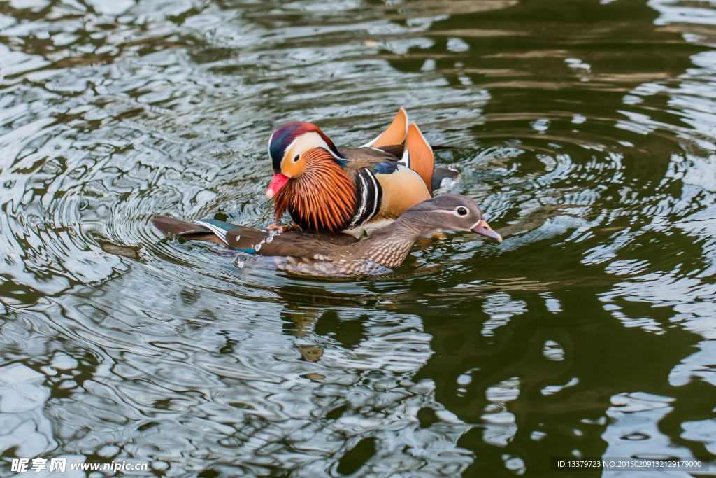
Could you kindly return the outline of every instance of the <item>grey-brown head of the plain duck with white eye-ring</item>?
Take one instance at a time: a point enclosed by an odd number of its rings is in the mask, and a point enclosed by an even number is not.
[[[502,236],[493,231],[483,218],[480,206],[460,194],[442,194],[422,201],[401,214],[396,225],[412,230],[417,235],[440,229],[454,229],[473,231],[502,242]]]

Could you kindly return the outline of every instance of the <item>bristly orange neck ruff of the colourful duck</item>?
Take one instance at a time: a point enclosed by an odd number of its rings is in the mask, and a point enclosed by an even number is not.
[[[296,224],[314,230],[339,231],[353,214],[356,189],[326,150],[309,150],[303,158],[304,172],[276,194],[276,217],[290,211]]]

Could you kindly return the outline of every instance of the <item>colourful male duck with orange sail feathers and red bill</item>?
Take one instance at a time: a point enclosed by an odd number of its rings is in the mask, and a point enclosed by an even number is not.
[[[430,199],[445,176],[433,174],[432,148],[403,108],[360,148],[336,148],[316,125],[288,123],[271,135],[269,156],[274,178],[266,197],[274,199],[277,222],[288,211],[302,229],[357,237]]]

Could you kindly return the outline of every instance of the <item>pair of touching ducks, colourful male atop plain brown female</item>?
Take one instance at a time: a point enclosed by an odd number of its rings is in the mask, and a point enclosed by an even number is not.
[[[288,123],[271,135],[269,156],[274,178],[266,196],[274,199],[276,222],[289,212],[301,231],[167,216],[156,216],[153,224],[185,239],[286,257],[275,261],[277,268],[323,277],[387,272],[403,262],[418,237],[440,229],[502,241],[472,199],[432,197],[455,174],[434,170],[432,147],[402,108],[384,133],[359,148],[336,148],[311,123]]]

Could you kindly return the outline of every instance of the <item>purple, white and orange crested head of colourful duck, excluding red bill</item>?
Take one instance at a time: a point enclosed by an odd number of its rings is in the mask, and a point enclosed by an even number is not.
[[[336,145],[318,126],[302,121],[281,126],[269,138],[269,156],[274,173],[284,173],[289,178],[299,176],[305,167],[301,164],[301,156],[315,148],[324,148],[335,159],[342,159]]]

